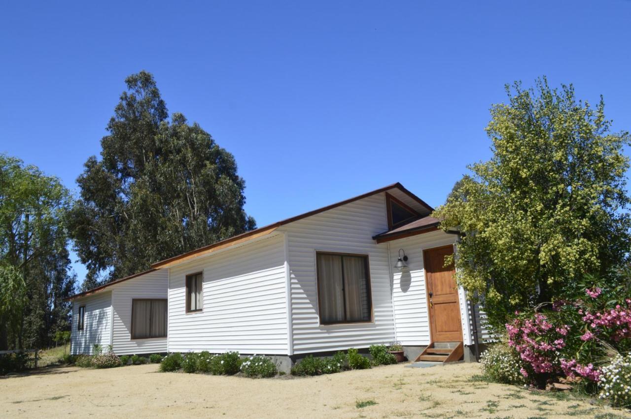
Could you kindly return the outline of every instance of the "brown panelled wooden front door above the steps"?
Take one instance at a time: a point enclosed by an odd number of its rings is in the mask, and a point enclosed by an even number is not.
[[[423,251],[432,342],[463,341],[456,271],[454,265],[444,267],[445,256],[452,253],[454,246],[451,245]]]

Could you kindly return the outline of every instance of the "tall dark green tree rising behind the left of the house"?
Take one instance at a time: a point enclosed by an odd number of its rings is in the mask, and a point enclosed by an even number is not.
[[[228,151],[165,102],[145,71],[127,91],[101,140],[101,159],[85,163],[81,198],[69,214],[75,250],[89,288],[140,272],[255,227],[245,214],[245,183]]]

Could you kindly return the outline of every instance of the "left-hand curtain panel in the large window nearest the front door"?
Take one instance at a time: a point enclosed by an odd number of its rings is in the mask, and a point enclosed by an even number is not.
[[[321,323],[344,321],[342,260],[336,255],[317,255]]]

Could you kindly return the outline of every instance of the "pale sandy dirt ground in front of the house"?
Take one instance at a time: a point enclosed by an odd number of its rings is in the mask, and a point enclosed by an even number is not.
[[[50,367],[1,378],[0,417],[630,417],[568,393],[471,379],[479,372],[477,364],[423,369],[399,364],[319,377],[248,379],[161,373],[155,364]]]

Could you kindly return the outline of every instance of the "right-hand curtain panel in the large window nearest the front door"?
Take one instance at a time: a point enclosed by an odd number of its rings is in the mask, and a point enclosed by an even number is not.
[[[366,259],[343,256],[346,321],[370,321]]]

